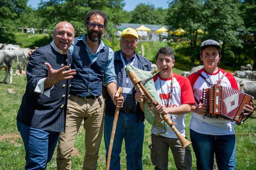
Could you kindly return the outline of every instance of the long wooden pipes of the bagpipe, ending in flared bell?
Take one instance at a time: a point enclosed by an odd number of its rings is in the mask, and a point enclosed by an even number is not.
[[[154,98],[151,96],[151,94],[148,92],[148,90],[145,88],[145,86],[142,84],[141,78],[138,76],[138,74],[134,70],[129,70],[128,71],[128,76],[130,80],[132,81],[132,84],[140,91],[141,95],[143,96],[144,100],[147,102],[150,110],[154,114],[156,118],[156,122],[159,123],[163,119],[171,127],[171,129],[174,131],[176,136],[178,137],[182,149],[186,148],[188,145],[190,145],[192,142],[188,141],[185,137],[183,137],[178,129],[174,126],[176,123],[172,122],[170,117],[167,114],[161,114],[162,118],[160,117],[160,114],[158,113],[156,106],[158,103]]]

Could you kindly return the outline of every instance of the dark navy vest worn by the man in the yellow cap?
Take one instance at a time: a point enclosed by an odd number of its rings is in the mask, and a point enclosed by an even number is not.
[[[122,87],[122,72],[121,69],[124,67],[122,60],[120,58],[121,50],[115,52],[115,59],[114,59],[114,66],[115,66],[115,72],[117,76],[117,87]],[[146,59],[145,57],[138,55],[136,53],[137,59],[138,59],[138,68],[141,70],[150,71],[151,70],[151,63]],[[134,99],[135,100],[135,99]],[[106,93],[106,100],[105,100],[105,114],[106,115],[114,115],[116,106],[114,105],[110,95]],[[136,113],[138,114],[138,122],[144,121],[144,112],[140,109],[140,104],[137,104],[135,108]]]

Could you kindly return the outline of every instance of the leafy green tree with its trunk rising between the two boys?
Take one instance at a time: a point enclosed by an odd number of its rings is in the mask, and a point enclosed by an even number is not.
[[[194,65],[198,29],[204,29],[202,24],[202,0],[174,0],[170,2],[166,24],[173,29],[182,28],[186,31],[185,37],[190,43],[190,61]]]

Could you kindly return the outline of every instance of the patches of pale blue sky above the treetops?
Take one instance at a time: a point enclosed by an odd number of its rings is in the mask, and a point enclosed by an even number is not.
[[[44,0],[44,1],[47,1],[47,0]],[[168,0],[124,0],[126,5],[124,6],[123,9],[128,12],[133,11],[134,8],[140,3],[153,4],[155,8],[162,7],[163,9],[167,9],[168,8],[167,1]],[[28,5],[30,5],[32,8],[37,8],[37,5],[39,2],[40,0],[28,0]]]

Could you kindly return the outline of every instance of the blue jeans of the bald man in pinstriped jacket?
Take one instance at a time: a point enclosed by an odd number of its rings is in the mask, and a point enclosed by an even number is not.
[[[60,137],[59,132],[28,127],[17,121],[26,151],[26,170],[44,170],[50,162]]]

